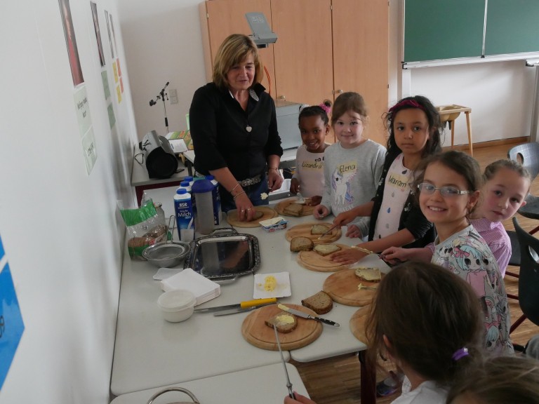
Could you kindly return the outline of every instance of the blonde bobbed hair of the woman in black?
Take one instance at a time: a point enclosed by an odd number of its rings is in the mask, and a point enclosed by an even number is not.
[[[227,36],[225,41],[222,41],[213,62],[213,83],[218,88],[228,88],[227,74],[229,70],[243,62],[248,55],[253,55],[255,63],[253,84],[260,83],[262,81],[262,62],[260,62],[258,48],[253,39],[244,34],[232,34]]]

